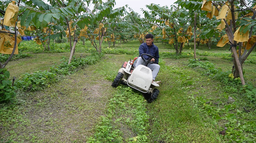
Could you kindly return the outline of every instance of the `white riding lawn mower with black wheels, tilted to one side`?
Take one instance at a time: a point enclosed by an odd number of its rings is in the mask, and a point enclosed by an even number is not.
[[[143,55],[147,55],[149,57],[146,60]],[[137,91],[142,92],[145,95],[145,98],[149,103],[154,101],[158,94],[159,90],[156,89],[159,85],[155,82],[152,82],[152,71],[147,66],[149,63],[155,64],[157,62],[156,58],[149,54],[142,54],[142,60],[144,61],[144,65],[138,65],[135,68],[137,57],[133,60],[125,62],[121,69],[118,70],[118,74],[114,81],[112,82],[113,87],[117,87],[119,83],[123,85],[128,85]],[[152,62],[152,59],[155,59]]]

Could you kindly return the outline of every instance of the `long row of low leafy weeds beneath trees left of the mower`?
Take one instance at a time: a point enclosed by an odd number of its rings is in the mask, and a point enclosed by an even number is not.
[[[38,91],[50,86],[50,83],[56,82],[56,75],[66,75],[73,73],[78,67],[84,66],[85,64],[91,65],[96,63],[102,58],[103,55],[91,54],[86,58],[74,58],[70,64],[65,57],[62,58],[61,64],[56,67],[50,68],[50,72],[37,71],[34,73],[26,73],[21,75],[18,79],[17,87],[24,91]]]

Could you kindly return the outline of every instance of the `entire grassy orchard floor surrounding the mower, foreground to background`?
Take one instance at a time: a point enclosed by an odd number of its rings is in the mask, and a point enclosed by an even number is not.
[[[174,52],[168,45],[155,45],[160,52]],[[105,43],[103,50],[109,50],[107,46]],[[117,44],[113,50],[136,51],[138,46],[139,42],[131,41]],[[76,57],[88,55],[82,52],[93,49],[88,43],[78,47]],[[191,47],[185,46],[184,52],[194,52]],[[218,56],[222,52],[228,54],[227,49],[213,47],[209,50],[199,46],[197,51],[217,55],[198,58],[207,57],[223,71],[230,71],[233,66],[232,62]],[[192,55],[160,61],[156,79],[162,80],[158,88],[160,94],[154,103],[148,104],[137,91],[125,86],[111,87],[123,62],[136,56],[120,54],[120,51],[117,54],[105,54],[101,62],[62,77],[44,91],[18,92],[15,104],[1,104],[0,142],[135,142],[135,139],[143,142],[144,136],[144,142],[150,143],[241,142],[237,132],[230,131],[238,122],[243,128],[235,130],[244,130],[239,132],[240,136],[250,139],[255,136],[253,104],[238,91],[227,89],[218,80],[201,74],[202,69],[188,67],[187,60]],[[62,56],[68,57],[69,53],[33,54],[32,58],[11,61],[6,68],[11,76],[19,77],[25,72],[47,70],[55,62],[59,64]],[[247,82],[255,85],[255,64],[244,64],[244,70]],[[230,101],[229,96],[234,100]],[[251,112],[245,112],[243,107]],[[236,117],[229,118],[231,114]],[[223,119],[217,119],[217,115]],[[247,123],[253,128],[244,128]],[[225,127],[227,134],[222,136],[219,132]],[[108,137],[113,139],[107,140]]]

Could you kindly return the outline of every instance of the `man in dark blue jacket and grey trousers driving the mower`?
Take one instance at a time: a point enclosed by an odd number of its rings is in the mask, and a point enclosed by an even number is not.
[[[139,58],[137,60],[136,66],[140,64],[145,64],[144,61],[141,58],[142,54],[149,54],[152,55],[153,57],[156,58],[157,63],[156,64],[148,64],[149,69],[152,70],[152,76],[153,76],[153,80],[152,83],[154,83],[155,77],[157,76],[160,66],[158,65],[158,60],[159,60],[159,51],[158,51],[158,47],[154,45],[153,41],[153,35],[152,34],[146,34],[145,36],[146,38],[146,43],[142,43],[139,47]],[[150,57],[143,55],[143,57],[148,60]],[[152,62],[155,62],[155,59],[152,58],[151,60]]]

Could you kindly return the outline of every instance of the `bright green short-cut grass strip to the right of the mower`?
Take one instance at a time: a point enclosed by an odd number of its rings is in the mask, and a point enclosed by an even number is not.
[[[178,63],[179,62],[179,63]],[[199,76],[181,60],[160,62],[156,80],[162,80],[158,99],[148,104],[151,142],[207,142],[216,143],[218,130],[212,119],[202,116],[189,100],[189,92],[200,82]],[[201,86],[201,85],[200,85]]]

